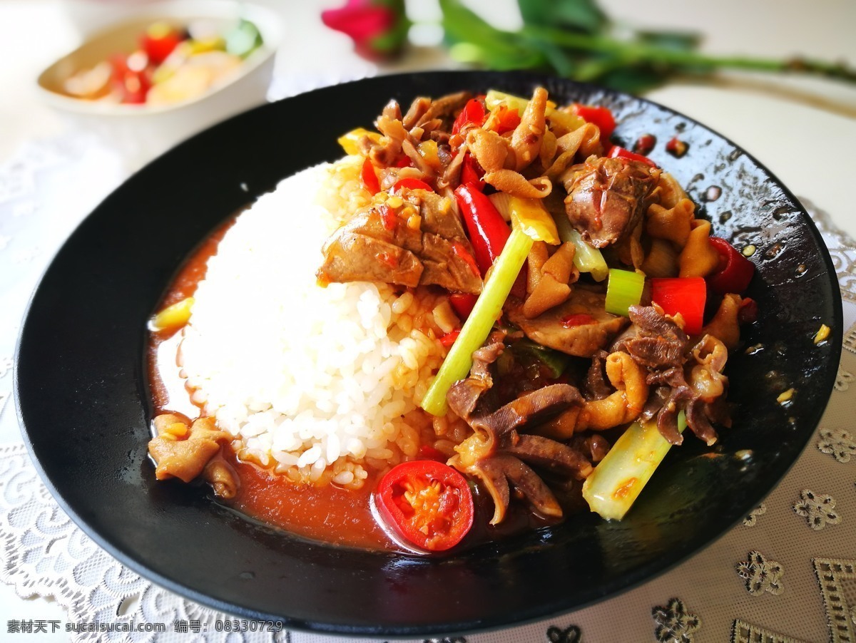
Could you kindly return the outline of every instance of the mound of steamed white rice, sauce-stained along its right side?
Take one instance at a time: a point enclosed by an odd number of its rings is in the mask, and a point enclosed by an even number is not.
[[[425,430],[440,298],[316,283],[324,240],[370,200],[353,159],[283,180],[226,233],[184,329],[194,402],[241,459],[294,481],[360,487],[367,469],[413,457]]]

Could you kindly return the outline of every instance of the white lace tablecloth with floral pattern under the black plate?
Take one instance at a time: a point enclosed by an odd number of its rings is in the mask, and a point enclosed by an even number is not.
[[[18,434],[11,370],[27,299],[62,240],[126,174],[115,151],[82,134],[27,145],[0,168],[0,435]],[[829,407],[782,483],[742,525],[615,599],[525,627],[431,641],[856,640],[856,245],[804,203],[832,253],[849,330]],[[342,641],[218,632],[224,622],[232,630],[250,624],[157,587],[102,551],[58,508],[21,442],[0,446],[0,547],[0,581],[22,598],[49,597],[67,611],[61,621],[0,622],[0,640],[97,623],[116,631],[71,631],[56,640]],[[165,631],[125,631],[157,624]]]

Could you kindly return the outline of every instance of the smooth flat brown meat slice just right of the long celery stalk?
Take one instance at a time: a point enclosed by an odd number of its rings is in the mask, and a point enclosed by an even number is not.
[[[603,310],[606,296],[576,288],[564,304],[526,319],[519,306],[508,308],[508,321],[543,346],[576,357],[591,357],[605,348],[627,324],[627,317]]]

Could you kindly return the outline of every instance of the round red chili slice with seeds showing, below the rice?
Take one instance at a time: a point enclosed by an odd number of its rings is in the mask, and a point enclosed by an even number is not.
[[[467,479],[434,460],[393,467],[377,485],[375,502],[390,528],[429,552],[454,547],[473,526],[473,493]]]

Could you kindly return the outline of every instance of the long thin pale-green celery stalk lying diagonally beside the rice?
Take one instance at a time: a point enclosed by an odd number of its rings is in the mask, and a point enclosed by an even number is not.
[[[502,304],[505,304],[508,292],[511,292],[514,280],[532,250],[532,243],[532,238],[519,227],[511,231],[505,247],[490,269],[490,276],[473,306],[473,312],[467,317],[461,334],[455,339],[455,344],[449,349],[449,354],[422,399],[422,408],[432,416],[446,415],[446,393],[457,380],[462,380],[469,374],[470,367],[473,366],[473,352],[484,344],[490,328],[502,312]]]

